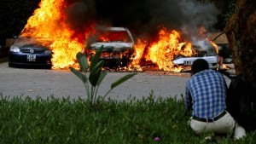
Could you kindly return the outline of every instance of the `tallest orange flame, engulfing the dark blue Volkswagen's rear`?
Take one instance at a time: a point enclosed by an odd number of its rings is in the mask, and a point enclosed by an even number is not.
[[[20,33],[22,37],[44,37],[52,42],[48,45],[53,52],[52,69],[78,67],[76,55],[84,49],[90,32],[78,34],[72,30],[65,23],[67,15],[63,9],[67,9],[64,0],[42,0]]]

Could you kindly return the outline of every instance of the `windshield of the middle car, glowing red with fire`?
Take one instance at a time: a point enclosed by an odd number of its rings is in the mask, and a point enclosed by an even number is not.
[[[131,37],[125,31],[103,31],[97,37],[97,42],[124,42],[124,43],[131,43]]]

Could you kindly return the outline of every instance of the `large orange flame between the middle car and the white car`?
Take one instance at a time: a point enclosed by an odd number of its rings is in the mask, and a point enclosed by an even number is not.
[[[156,42],[148,44],[147,40],[138,39],[135,45],[135,57],[133,58],[132,65],[139,65],[140,60],[144,58],[147,61],[151,60],[160,70],[180,72],[182,67],[174,66],[172,63],[174,56],[190,56],[193,54],[195,52],[192,49],[191,43],[180,42],[180,32],[175,30],[169,31],[166,27],[162,27]]]

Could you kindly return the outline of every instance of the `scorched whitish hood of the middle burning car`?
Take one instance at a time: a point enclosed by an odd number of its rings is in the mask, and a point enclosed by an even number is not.
[[[124,51],[127,49],[133,49],[133,43],[92,43],[90,44],[90,49],[99,49],[103,46],[103,51],[112,50],[112,51]]]

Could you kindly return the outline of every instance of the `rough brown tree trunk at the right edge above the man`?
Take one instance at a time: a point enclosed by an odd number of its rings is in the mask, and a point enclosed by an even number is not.
[[[225,32],[230,43],[236,74],[256,83],[256,1],[238,0]]]

